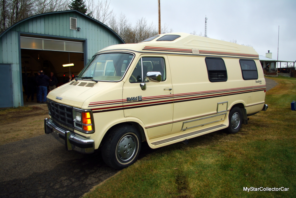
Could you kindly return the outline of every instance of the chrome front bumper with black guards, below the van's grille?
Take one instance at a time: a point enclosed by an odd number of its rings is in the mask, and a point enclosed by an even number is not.
[[[66,146],[67,151],[77,151],[79,153],[93,153],[95,151],[95,142],[78,136],[61,126],[56,125],[50,118],[44,119],[44,131],[46,134],[52,134],[59,142]]]

